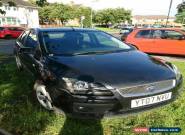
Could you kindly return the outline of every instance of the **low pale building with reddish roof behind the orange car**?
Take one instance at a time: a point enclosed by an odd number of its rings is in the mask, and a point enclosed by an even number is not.
[[[165,25],[167,16],[165,15],[135,15],[132,19],[133,24],[137,25]],[[168,25],[176,25],[175,17],[169,17]]]

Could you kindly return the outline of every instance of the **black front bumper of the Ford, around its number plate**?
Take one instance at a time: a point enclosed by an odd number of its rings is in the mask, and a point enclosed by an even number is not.
[[[139,97],[123,97],[117,90],[112,90],[112,95],[70,95],[70,107],[66,111],[67,115],[81,118],[97,118],[103,116],[118,116],[123,114],[137,113],[148,109],[153,109],[174,101],[182,92],[183,78],[177,81],[173,89],[153,95],[145,95]],[[172,98],[167,101],[145,105],[138,108],[131,108],[131,100],[155,96],[167,92],[172,92]],[[61,107],[62,108],[62,107]]]

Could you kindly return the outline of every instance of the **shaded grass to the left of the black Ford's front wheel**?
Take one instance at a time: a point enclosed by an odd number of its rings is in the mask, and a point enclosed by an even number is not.
[[[11,56],[0,56],[0,127],[13,135],[40,134],[56,119],[35,101],[33,83]]]

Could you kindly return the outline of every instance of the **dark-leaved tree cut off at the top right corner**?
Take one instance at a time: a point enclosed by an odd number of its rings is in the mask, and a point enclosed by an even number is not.
[[[176,22],[185,23],[185,2],[177,6],[178,13],[176,14]]]

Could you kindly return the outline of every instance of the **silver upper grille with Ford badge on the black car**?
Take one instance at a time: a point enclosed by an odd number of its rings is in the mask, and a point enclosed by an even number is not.
[[[175,87],[175,80],[165,80],[119,89],[123,97],[146,96],[160,92],[165,92]]]

